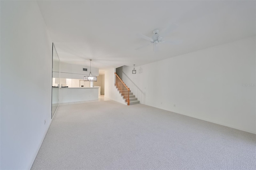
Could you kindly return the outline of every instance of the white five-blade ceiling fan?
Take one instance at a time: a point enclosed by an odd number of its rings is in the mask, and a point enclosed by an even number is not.
[[[143,38],[145,40],[150,41],[150,43],[143,45],[141,47],[136,48],[136,50],[144,48],[150,44],[154,44],[154,52],[158,51],[158,43],[171,43],[171,44],[180,44],[182,43],[182,40],[163,40],[163,37],[168,35],[170,32],[172,32],[173,30],[175,30],[178,27],[178,24],[171,24],[170,26],[168,26],[168,28],[166,28],[166,31],[164,31],[162,34],[159,34],[159,30],[153,30],[153,36],[152,38],[145,36],[143,34],[138,34],[138,36],[140,36],[140,38]]]

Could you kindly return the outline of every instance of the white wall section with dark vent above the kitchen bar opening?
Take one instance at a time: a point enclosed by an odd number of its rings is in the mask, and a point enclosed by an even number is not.
[[[90,64],[90,61],[88,61]],[[92,63],[93,64],[93,63]],[[83,71],[83,68],[87,68],[87,71]],[[99,69],[91,67],[92,75],[98,76]],[[84,79],[84,76],[89,75],[90,66],[76,65],[60,62],[60,77],[68,79]]]

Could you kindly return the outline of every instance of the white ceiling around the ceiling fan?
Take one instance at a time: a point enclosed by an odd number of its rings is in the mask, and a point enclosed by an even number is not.
[[[255,35],[256,1],[38,1],[60,60],[106,69],[151,63]],[[178,28],[159,44],[154,29]]]

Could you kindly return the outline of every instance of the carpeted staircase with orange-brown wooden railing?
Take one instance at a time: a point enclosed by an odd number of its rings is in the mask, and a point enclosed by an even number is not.
[[[131,92],[131,90],[126,86],[126,84],[124,84],[124,82],[120,79],[120,77],[118,77],[116,73],[115,75],[116,75],[115,87],[118,90],[121,97],[124,99],[125,103],[127,105],[134,105],[134,104],[140,103],[140,101],[138,101],[138,99]]]

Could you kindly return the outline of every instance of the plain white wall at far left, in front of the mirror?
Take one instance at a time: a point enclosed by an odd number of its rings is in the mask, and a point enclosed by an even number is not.
[[[52,42],[37,2],[0,3],[0,168],[30,169],[51,122]]]

